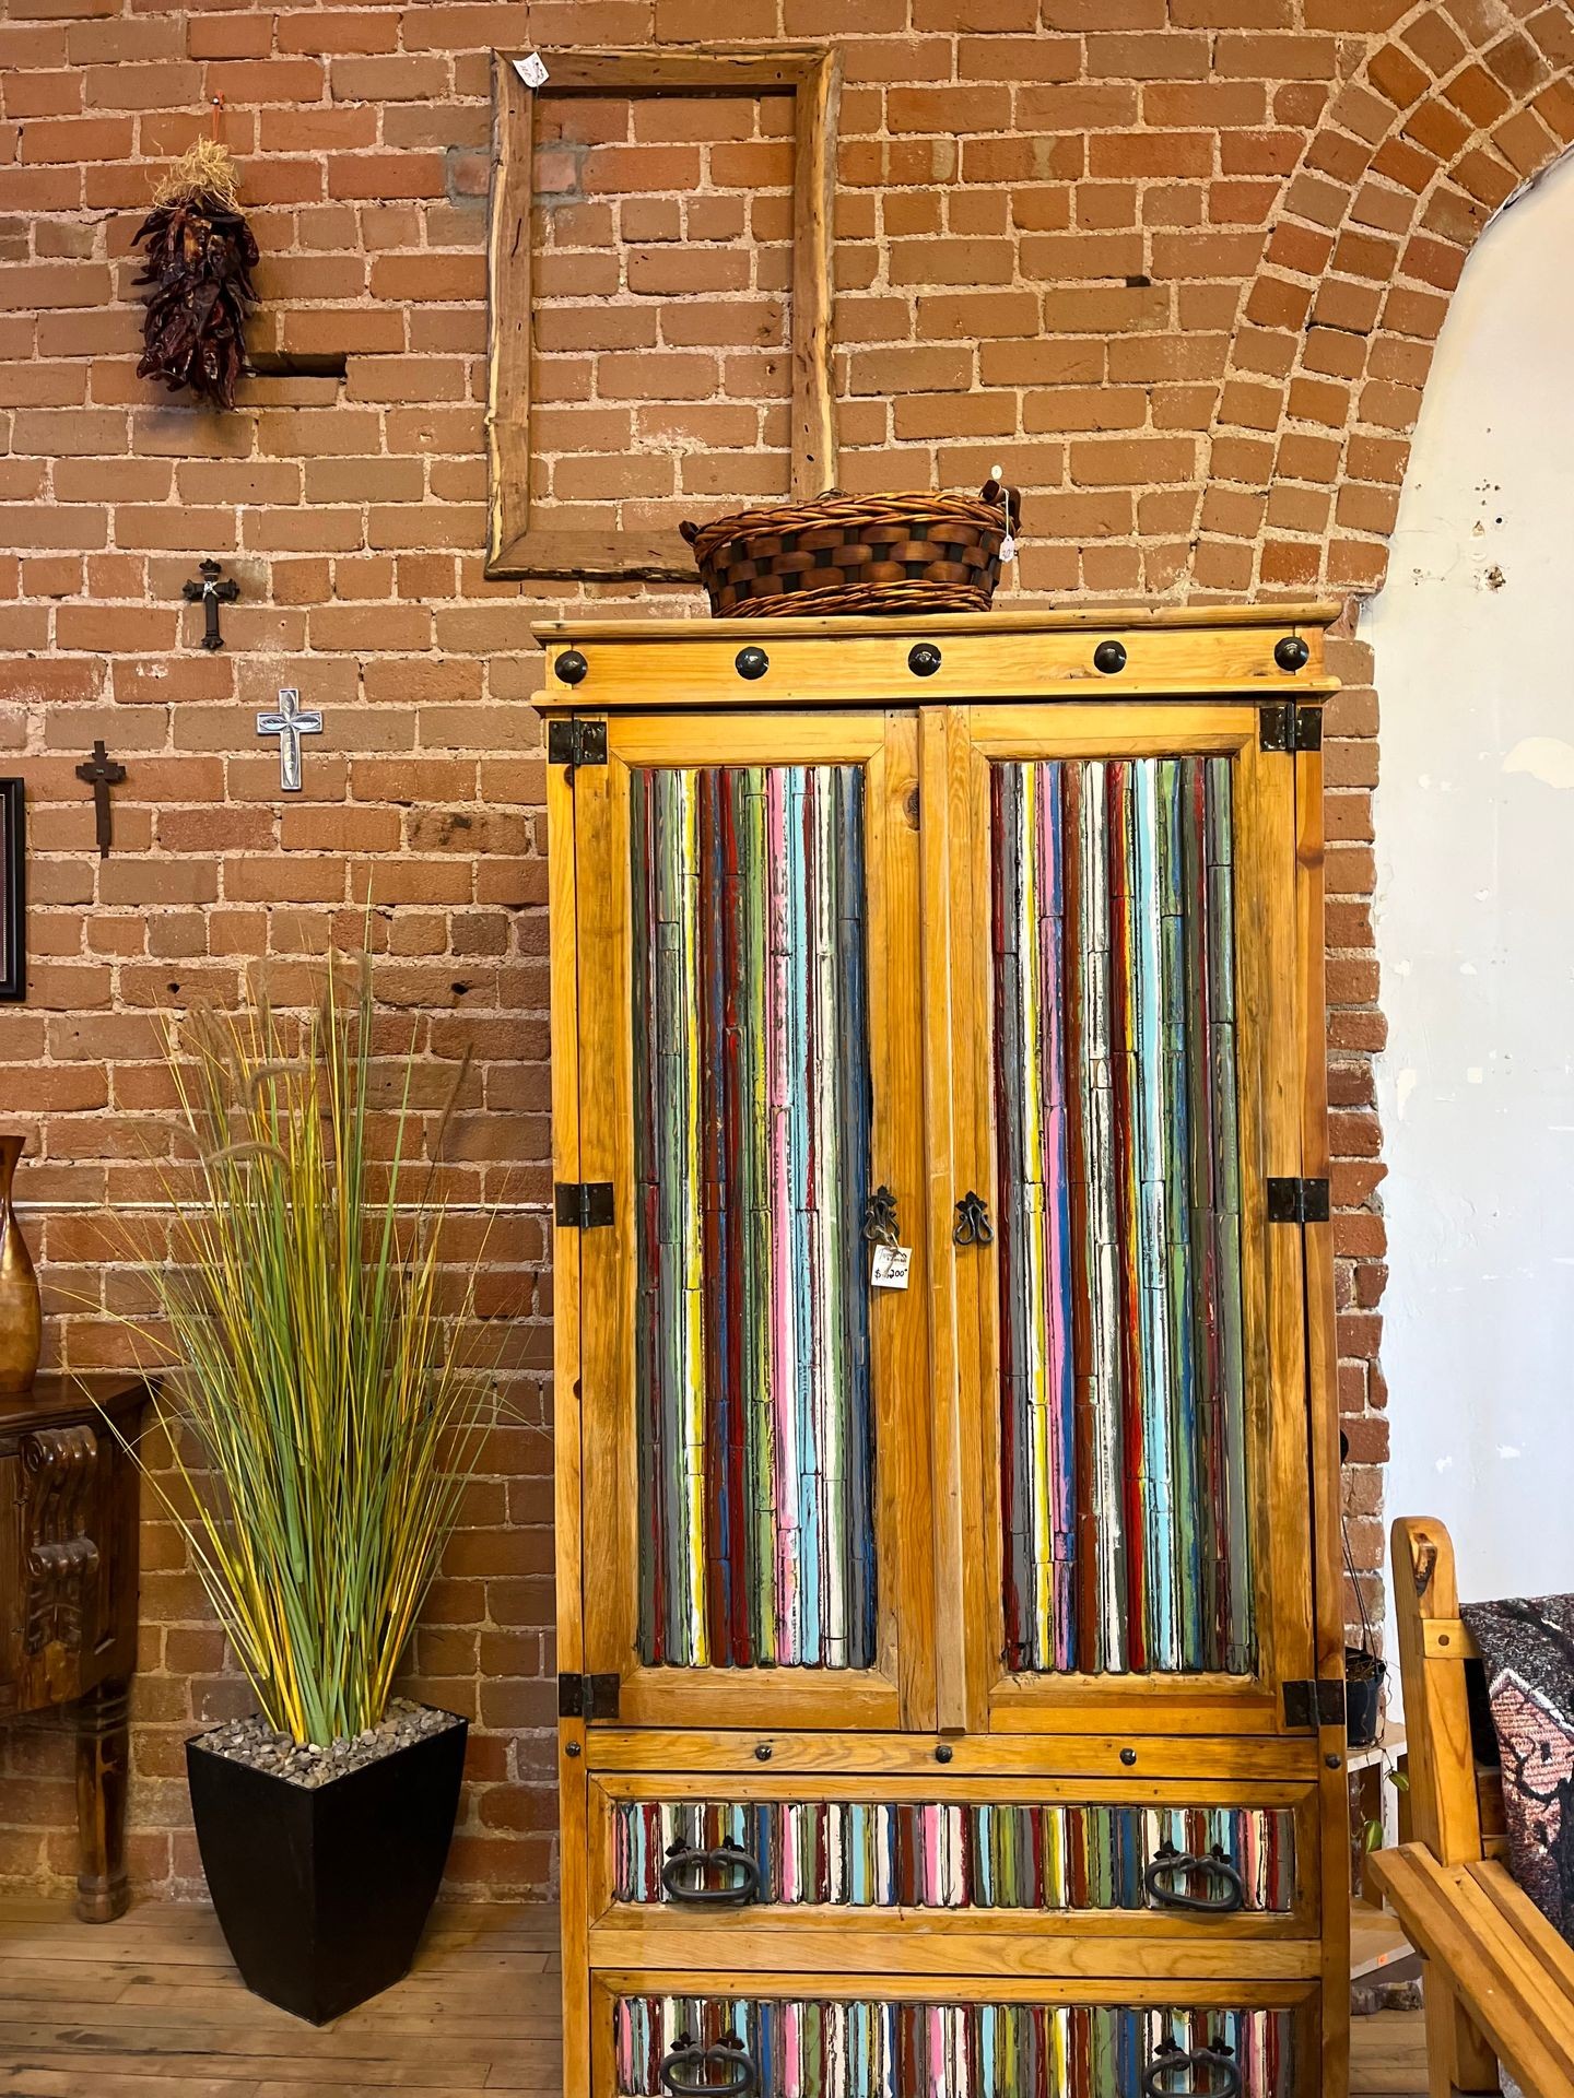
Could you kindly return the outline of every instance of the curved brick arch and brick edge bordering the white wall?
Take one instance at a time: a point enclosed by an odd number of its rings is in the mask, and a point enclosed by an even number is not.
[[[1442,0],[1404,10],[1337,88],[1286,176],[1209,430],[1192,598],[1368,598],[1433,348],[1488,220],[1574,143],[1574,8]],[[1328,709],[1328,1101],[1345,1517],[1366,1609],[1383,1609],[1387,1236],[1375,1055],[1377,692],[1370,650],[1335,644]]]

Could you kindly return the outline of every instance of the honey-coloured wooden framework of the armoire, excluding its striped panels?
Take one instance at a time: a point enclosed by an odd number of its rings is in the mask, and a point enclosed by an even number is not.
[[[613,1229],[556,1234],[558,1664],[619,1674],[615,1716],[560,1725],[565,2092],[604,2098],[607,2004],[619,1987],[674,1993],[946,1997],[1049,1991],[1081,2001],[1297,2001],[1318,2090],[1345,2090],[1347,1804],[1343,1727],[1291,1731],[1286,1678],[1343,1674],[1333,1229],[1270,1225],[1265,1179],[1326,1179],[1320,701],[1337,688],[1322,634],[1333,606],[1001,613],[928,621],[554,621],[541,627],[541,711],[604,724],[607,764],[548,768],[552,827],[554,1173],[611,1181]],[[917,680],[917,636],[942,665]],[[1305,642],[1299,669],[1278,661]],[[1119,676],[1093,650],[1119,640]],[[764,648],[745,678],[741,650]],[[1299,650],[1284,650],[1295,661]],[[558,738],[579,749],[577,738]],[[997,1414],[991,1257],[951,1244],[955,1202],[995,1187],[988,1093],[988,841],[980,783],[995,757],[1219,753],[1232,759],[1242,894],[1270,896],[1236,948],[1251,1001],[1242,1057],[1242,1250],[1259,1307],[1255,1563],[1259,1678],[1001,1674]],[[884,1022],[877,1177],[898,1192],[913,1280],[902,1303],[900,1479],[881,1492],[886,1599],[898,1664],[877,1680],[768,1683],[764,1670],[642,1670],[632,1662],[628,1391],[630,1028],[625,772],[634,764],[860,762]],[[877,866],[873,862],[879,862]],[[594,980],[596,994],[588,997]],[[900,1133],[900,1135],[898,1135]],[[1242,1150],[1247,1146],[1242,1143]],[[915,1219],[909,1223],[909,1215]],[[890,1464],[890,1435],[886,1458]],[[581,1477],[583,1467],[583,1477]],[[579,1607],[583,1597],[583,1611]],[[690,1674],[695,1680],[682,1680]],[[787,1674],[785,1670],[779,1674]],[[797,1674],[806,1674],[800,1670]],[[1293,1918],[1203,1930],[1154,1918],[1001,1915],[959,1928],[934,1911],[835,1922],[787,1909],[741,1924],[609,1903],[611,1796],[1291,1798],[1305,1886]],[[1005,1792],[1001,1792],[1005,1787]],[[1217,1787],[1217,1790],[1215,1790]],[[1137,1924],[1133,1930],[1131,1924]],[[835,1974],[814,1972],[816,1947]],[[802,1972],[800,1972],[802,1970]],[[856,1972],[856,1981],[852,1978]],[[787,1981],[785,1976],[791,1976]],[[982,1976],[982,1978],[980,1978]],[[1114,1993],[1112,1993],[1114,1991]],[[1148,1991],[1137,1997],[1133,1991]],[[1310,2060],[1305,2056],[1303,2060]],[[1295,2098],[1307,2098],[1303,2069]],[[1282,2094],[1291,2098],[1291,2094]]]

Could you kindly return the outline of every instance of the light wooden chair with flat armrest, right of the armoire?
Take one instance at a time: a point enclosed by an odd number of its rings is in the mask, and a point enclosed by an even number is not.
[[[1496,2092],[1498,2062],[1526,2098],[1574,2098],[1574,1949],[1509,1878],[1482,1660],[1438,1521],[1394,1523],[1394,1615],[1417,1840],[1366,1869],[1427,1960],[1429,2098]]]

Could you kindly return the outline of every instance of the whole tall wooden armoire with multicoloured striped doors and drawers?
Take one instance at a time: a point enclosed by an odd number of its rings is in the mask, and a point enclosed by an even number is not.
[[[567,2098],[1337,2098],[1335,608],[554,621]]]

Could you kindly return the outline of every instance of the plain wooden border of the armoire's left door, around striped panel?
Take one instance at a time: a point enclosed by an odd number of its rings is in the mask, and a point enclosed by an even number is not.
[[[913,791],[913,720],[896,713],[735,715],[728,764],[860,764],[869,835],[869,1034],[873,1085],[873,1181],[917,1204],[921,1125],[911,1045],[917,999],[917,833],[907,820]],[[634,1448],[634,1154],[630,1051],[630,770],[716,759],[716,736],[697,715],[619,715],[607,728],[607,764],[575,783],[579,1179],[611,1181],[615,1223],[583,1234],[581,1435],[583,1479],[583,1666],[621,1674],[619,1716],[644,1725],[724,1727],[926,1727],[934,1725],[932,1601],[928,1580],[930,1427],[921,1253],[907,1292],[871,1305],[875,1487],[879,1550],[879,1651],[873,1670],[655,1668],[634,1655],[636,1490]],[[911,1208],[909,1208],[911,1215]],[[923,1553],[919,1553],[923,1540]]]

